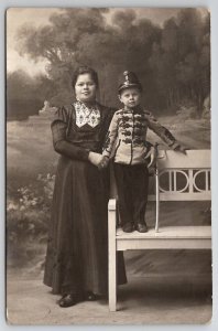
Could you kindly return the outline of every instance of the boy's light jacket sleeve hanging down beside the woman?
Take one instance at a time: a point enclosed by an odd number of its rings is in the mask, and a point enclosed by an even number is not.
[[[102,148],[103,157],[110,158],[117,137],[118,137],[118,115],[115,114],[110,122],[108,132],[106,135],[106,140]]]

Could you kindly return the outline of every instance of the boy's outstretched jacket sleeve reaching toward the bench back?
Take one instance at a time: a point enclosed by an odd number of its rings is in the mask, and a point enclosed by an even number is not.
[[[163,127],[152,113],[145,111],[145,117],[148,120],[148,127],[154,131],[168,147],[176,149],[179,146],[178,141],[171,134],[171,131]]]

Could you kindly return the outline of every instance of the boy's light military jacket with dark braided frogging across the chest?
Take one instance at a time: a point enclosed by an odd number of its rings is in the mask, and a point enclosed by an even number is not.
[[[139,106],[134,109],[119,109],[115,113],[103,146],[102,154],[115,156],[115,162],[123,164],[145,163],[149,147],[148,128],[154,131],[168,147],[175,149],[178,142],[163,127],[152,113]]]

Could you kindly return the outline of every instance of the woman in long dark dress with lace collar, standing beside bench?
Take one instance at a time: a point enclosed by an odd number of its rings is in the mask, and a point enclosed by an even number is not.
[[[61,154],[53,196],[44,284],[61,293],[61,307],[107,293],[107,204],[109,172],[102,143],[112,111],[96,102],[97,73],[79,67],[73,78],[76,102],[58,109],[52,122]],[[119,284],[124,284],[123,258]]]

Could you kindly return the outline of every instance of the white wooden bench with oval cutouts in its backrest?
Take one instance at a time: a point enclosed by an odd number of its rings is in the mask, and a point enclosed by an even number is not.
[[[115,194],[113,194],[115,195]],[[117,250],[211,249],[211,226],[164,226],[159,224],[161,201],[210,201],[210,150],[159,151],[155,173],[155,227],[148,233],[123,233],[117,227],[117,199],[108,204],[109,309],[117,306]]]

